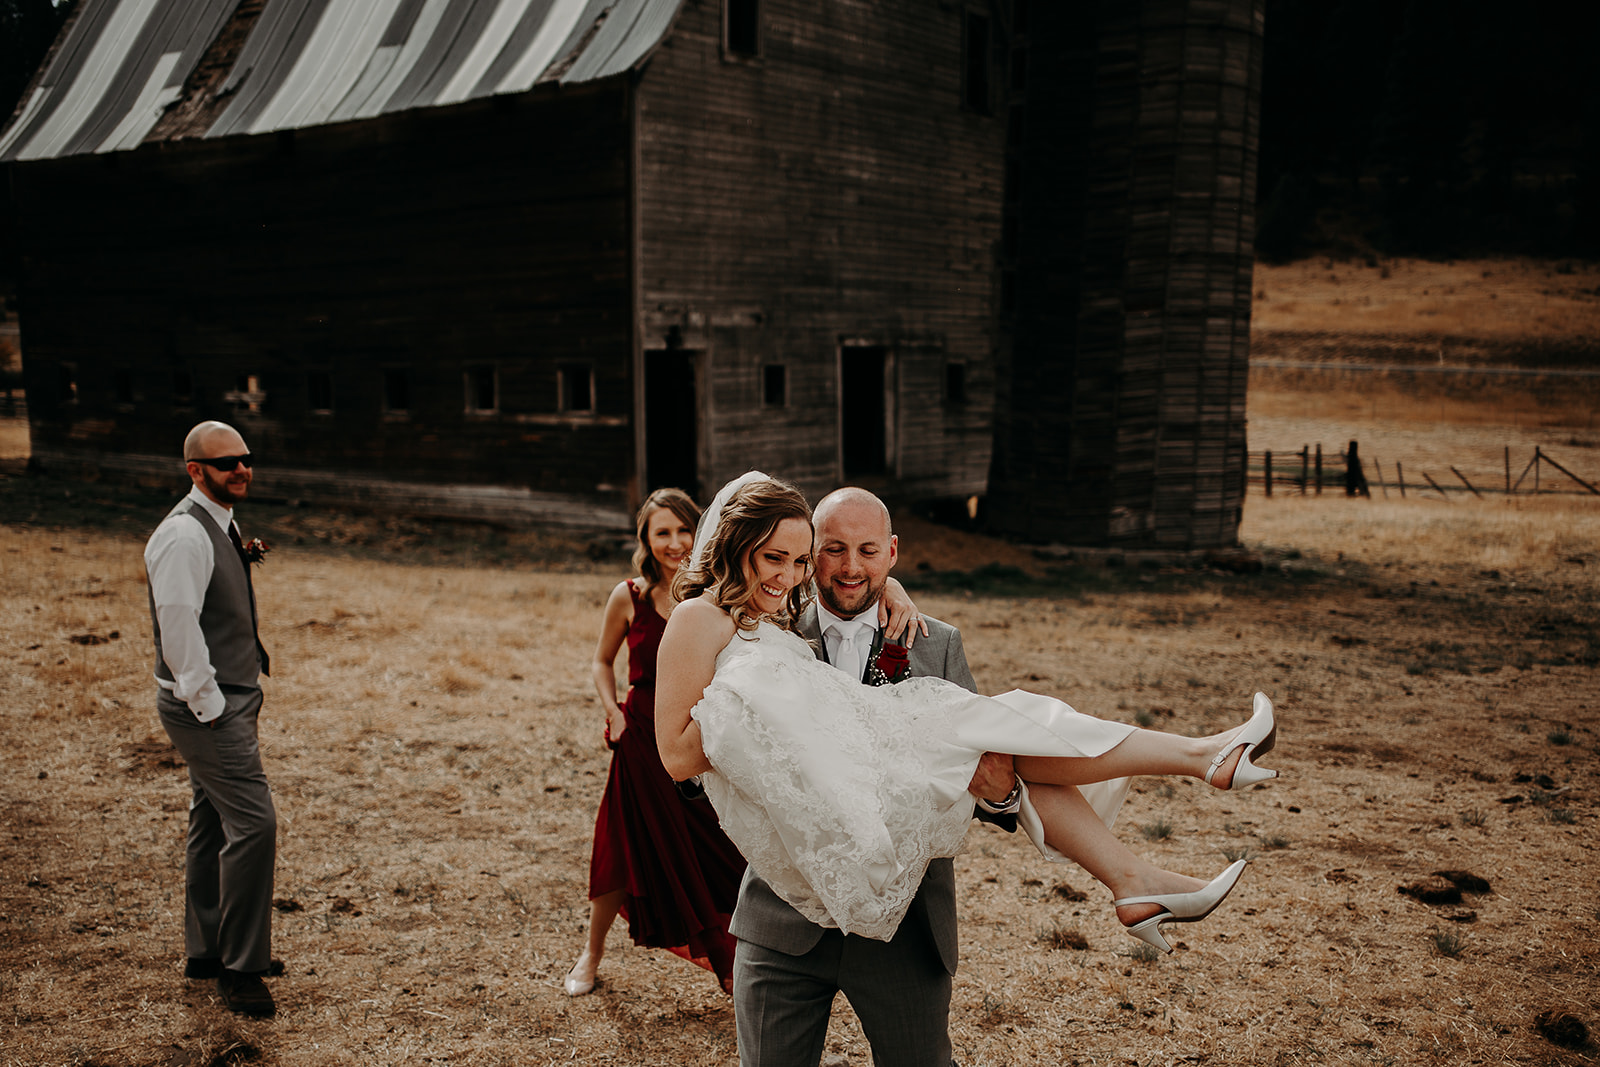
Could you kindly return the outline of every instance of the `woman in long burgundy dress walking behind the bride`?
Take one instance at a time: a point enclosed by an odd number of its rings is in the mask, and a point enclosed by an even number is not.
[[[606,709],[611,776],[595,816],[589,861],[589,944],[563,987],[595,987],[605,937],[622,915],[635,945],[666,949],[717,974],[733,990],[728,920],[739,897],[744,857],[717,813],[685,800],[656,750],[656,649],[672,614],[672,577],[694,545],[699,509],[682,490],[656,490],[638,509],[638,577],[619,582],[605,606],[594,677]],[[616,656],[627,641],[627,696],[618,701]]]

